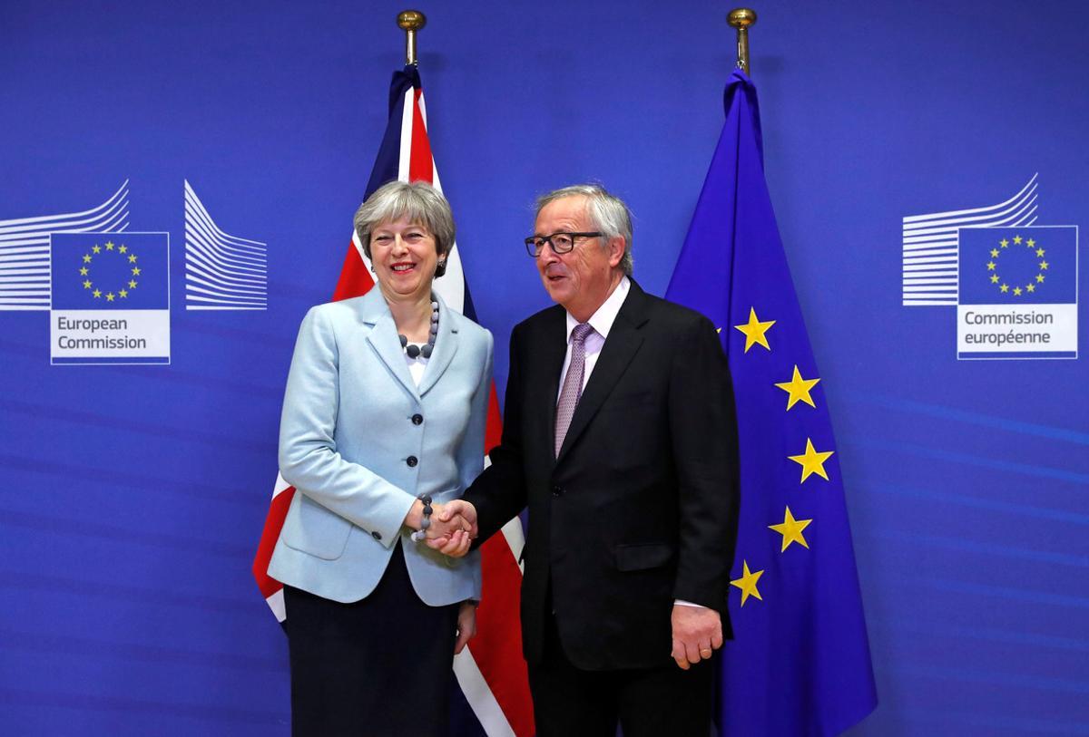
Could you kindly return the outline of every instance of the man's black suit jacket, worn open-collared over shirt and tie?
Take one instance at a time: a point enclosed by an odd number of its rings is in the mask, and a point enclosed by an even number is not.
[[[674,599],[718,610],[731,636],[737,439],[726,360],[710,321],[632,282],[554,458],[565,321],[556,305],[512,332],[502,442],[465,499],[480,539],[529,507],[528,662],[541,660],[551,610],[580,669],[665,665]]]

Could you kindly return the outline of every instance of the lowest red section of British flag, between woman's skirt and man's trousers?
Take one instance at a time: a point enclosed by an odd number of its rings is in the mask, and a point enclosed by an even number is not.
[[[494,396],[494,395],[492,395]],[[517,737],[533,737],[534,702],[522,655],[522,569],[502,533],[480,546],[484,589],[477,608],[473,659]]]

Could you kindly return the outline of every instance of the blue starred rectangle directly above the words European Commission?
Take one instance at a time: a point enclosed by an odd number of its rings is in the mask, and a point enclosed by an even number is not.
[[[50,243],[53,310],[170,307],[166,233],[54,233]]]

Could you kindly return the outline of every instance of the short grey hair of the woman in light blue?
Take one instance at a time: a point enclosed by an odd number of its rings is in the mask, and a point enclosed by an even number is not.
[[[352,224],[359,236],[363,252],[371,258],[370,232],[375,227],[402,217],[414,225],[423,225],[435,236],[435,250],[439,255],[435,276],[442,276],[446,272],[445,257],[454,247],[454,215],[442,192],[426,182],[389,182],[359,205]]]

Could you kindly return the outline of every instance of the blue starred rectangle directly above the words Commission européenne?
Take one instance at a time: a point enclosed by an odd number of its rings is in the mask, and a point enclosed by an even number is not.
[[[960,304],[1073,304],[1078,230],[1073,225],[960,228]]]

